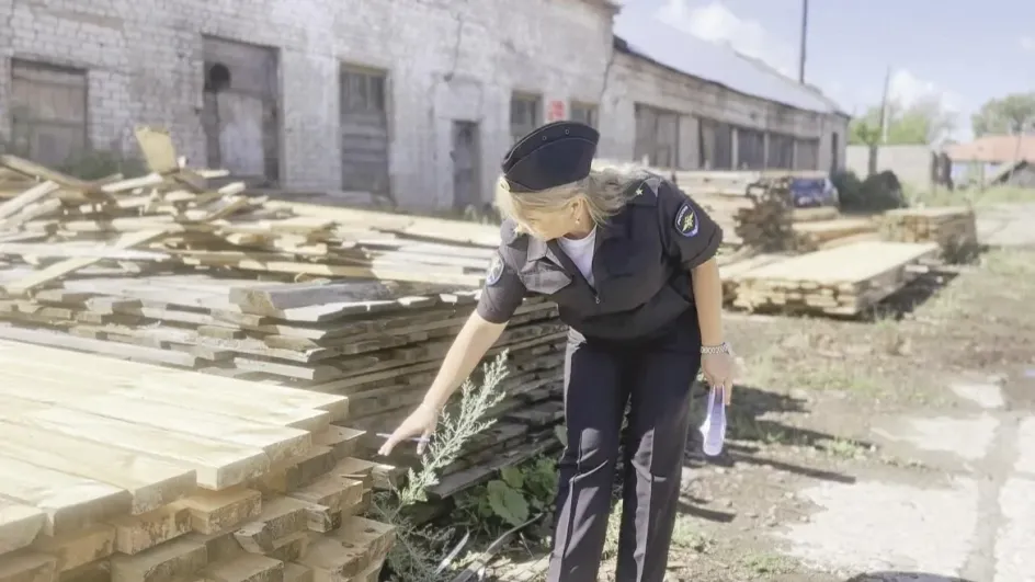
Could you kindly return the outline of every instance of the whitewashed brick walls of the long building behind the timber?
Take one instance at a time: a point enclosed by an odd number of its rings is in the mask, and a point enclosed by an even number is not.
[[[683,168],[702,166],[703,117],[831,135],[830,115],[615,52],[609,0],[244,4],[0,0],[0,138],[59,163],[133,155],[134,126],[161,124],[192,164],[429,208],[489,199],[513,137],[555,118],[599,125],[601,155],[630,159],[664,149],[644,137],[664,134],[658,115],[637,130],[635,112],[671,110]]]

